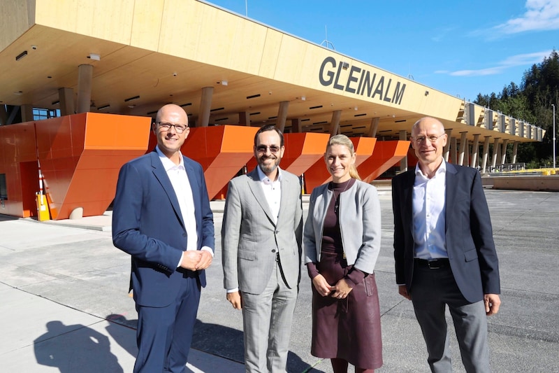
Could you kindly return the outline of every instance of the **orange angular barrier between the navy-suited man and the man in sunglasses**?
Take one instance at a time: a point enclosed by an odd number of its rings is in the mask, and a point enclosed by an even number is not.
[[[180,150],[202,165],[210,199],[224,198],[231,178],[254,156],[252,146],[256,131],[258,127],[234,125],[190,129]]]

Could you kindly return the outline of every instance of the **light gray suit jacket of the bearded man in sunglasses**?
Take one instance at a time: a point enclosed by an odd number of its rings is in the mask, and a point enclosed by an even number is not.
[[[301,186],[297,176],[281,172],[282,200],[276,223],[256,169],[229,182],[222,225],[226,289],[261,294],[277,253],[286,285],[298,286],[303,236]]]

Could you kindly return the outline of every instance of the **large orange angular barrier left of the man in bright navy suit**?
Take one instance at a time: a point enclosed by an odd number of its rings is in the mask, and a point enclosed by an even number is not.
[[[102,215],[115,197],[122,164],[145,153],[150,118],[82,113],[36,125],[38,159],[52,219],[77,208]]]

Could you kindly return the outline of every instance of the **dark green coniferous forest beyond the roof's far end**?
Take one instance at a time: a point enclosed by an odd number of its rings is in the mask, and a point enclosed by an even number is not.
[[[552,104],[555,105],[556,130],[559,127],[559,54],[556,50],[526,70],[520,85],[511,82],[498,94],[480,93],[474,103],[545,129],[542,142],[518,145],[517,162],[525,162],[528,168],[553,166]],[[507,159],[510,159],[509,155]],[[556,160],[556,163],[559,162]]]

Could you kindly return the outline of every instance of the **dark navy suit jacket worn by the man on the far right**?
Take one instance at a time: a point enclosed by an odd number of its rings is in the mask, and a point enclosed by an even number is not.
[[[405,283],[412,296],[414,181],[415,169],[392,179],[396,283]],[[500,294],[493,229],[479,172],[447,163],[446,182],[445,240],[458,288],[472,303],[484,294]]]

